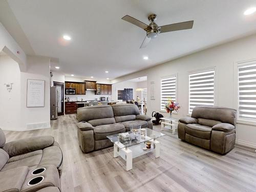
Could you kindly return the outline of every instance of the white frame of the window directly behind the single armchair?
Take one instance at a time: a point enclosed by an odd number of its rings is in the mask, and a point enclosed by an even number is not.
[[[209,71],[214,71],[214,105],[216,105],[216,67],[210,67],[210,68],[205,68],[205,69],[199,69],[199,70],[195,70],[195,71],[189,71],[188,72],[188,116],[191,115],[190,112],[190,75],[196,74],[196,73],[204,73],[204,72],[209,72]]]

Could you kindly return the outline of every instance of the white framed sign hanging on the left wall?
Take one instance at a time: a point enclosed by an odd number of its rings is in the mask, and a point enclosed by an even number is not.
[[[28,79],[27,107],[45,106],[45,80]]]

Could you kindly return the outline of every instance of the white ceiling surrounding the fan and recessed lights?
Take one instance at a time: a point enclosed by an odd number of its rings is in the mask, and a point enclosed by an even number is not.
[[[243,12],[255,0],[8,0],[35,54],[59,58],[60,71],[111,79],[256,32],[256,14]],[[148,24],[194,20],[191,30],[160,34],[139,49],[145,32],[121,19]],[[72,40],[63,43],[63,34]],[[143,60],[143,56],[148,60]],[[104,71],[110,73],[106,74]]]

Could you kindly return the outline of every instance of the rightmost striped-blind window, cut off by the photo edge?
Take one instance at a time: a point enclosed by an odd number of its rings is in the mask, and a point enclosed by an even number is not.
[[[256,120],[256,62],[238,66],[239,117]]]

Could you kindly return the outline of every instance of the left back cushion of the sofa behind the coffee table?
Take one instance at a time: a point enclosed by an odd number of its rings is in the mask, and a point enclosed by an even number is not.
[[[110,105],[87,106],[78,108],[76,118],[78,121],[90,121],[93,119],[113,118],[114,113]],[[105,123],[108,124],[108,123]]]

